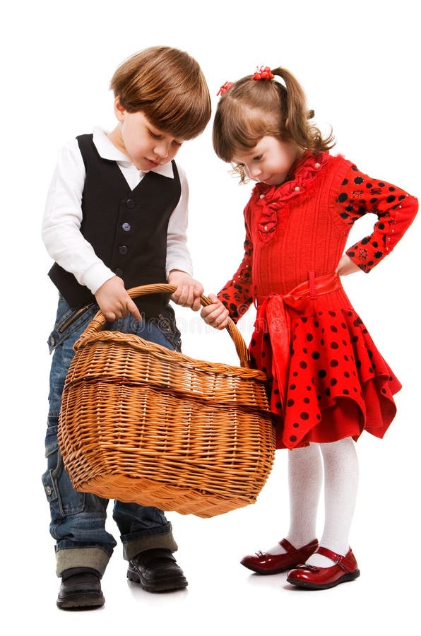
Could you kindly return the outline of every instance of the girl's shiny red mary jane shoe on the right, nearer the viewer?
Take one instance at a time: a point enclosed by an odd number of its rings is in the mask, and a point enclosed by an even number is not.
[[[287,576],[287,582],[306,589],[328,589],[340,583],[357,579],[360,576],[360,570],[358,570],[357,561],[351,548],[345,556],[336,554],[336,552],[323,547],[318,548],[316,554],[328,557],[335,562],[335,565],[331,567],[298,565]]]

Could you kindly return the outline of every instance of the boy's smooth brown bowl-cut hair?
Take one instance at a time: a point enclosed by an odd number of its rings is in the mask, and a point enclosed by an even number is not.
[[[110,88],[128,112],[141,111],[158,129],[180,139],[201,134],[210,95],[197,61],[171,47],[150,47],[126,59]]]

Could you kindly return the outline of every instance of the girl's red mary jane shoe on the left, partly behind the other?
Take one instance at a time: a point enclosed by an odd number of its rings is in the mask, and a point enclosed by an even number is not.
[[[292,544],[283,539],[279,542],[286,550],[285,554],[268,554],[266,552],[256,552],[255,555],[247,555],[240,561],[241,565],[257,574],[278,574],[286,572],[298,563],[304,563],[316,551],[319,542],[314,539],[307,546],[297,550]]]

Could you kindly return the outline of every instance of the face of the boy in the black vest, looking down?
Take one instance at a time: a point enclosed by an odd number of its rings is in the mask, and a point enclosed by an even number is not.
[[[118,98],[114,102],[114,110],[120,123],[110,138],[138,170],[153,170],[174,159],[183,139],[162,132],[141,111],[127,112]]]

